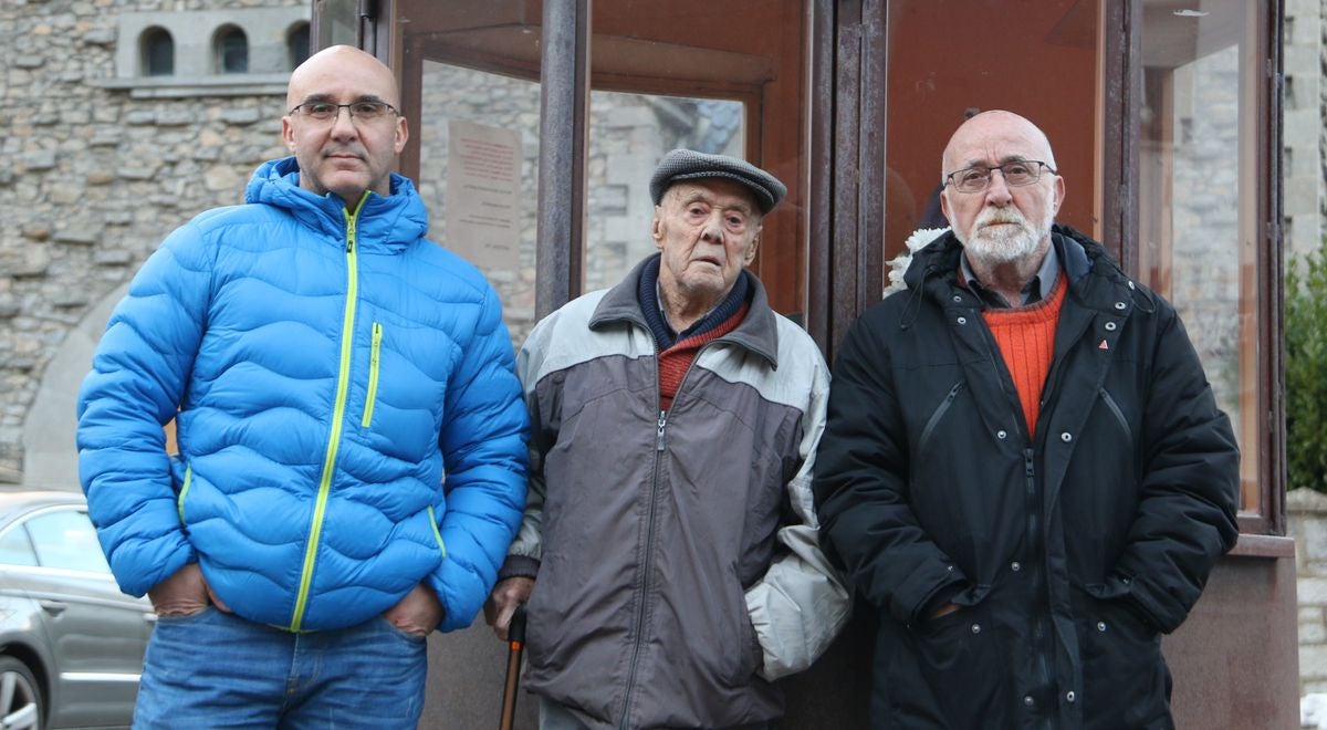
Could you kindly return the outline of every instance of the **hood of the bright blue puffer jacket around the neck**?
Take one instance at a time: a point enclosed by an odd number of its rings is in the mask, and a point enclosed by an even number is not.
[[[244,190],[245,203],[283,208],[303,224],[337,240],[345,238],[346,206],[334,192],[316,195],[300,187],[295,157],[264,162]],[[391,195],[368,192],[360,208],[357,242],[361,250],[401,252],[429,231],[429,214],[409,178],[391,174]]]

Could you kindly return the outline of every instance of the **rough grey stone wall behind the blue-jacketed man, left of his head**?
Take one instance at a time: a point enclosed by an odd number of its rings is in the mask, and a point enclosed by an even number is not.
[[[0,5],[0,206],[7,216],[0,226],[0,484],[23,480],[24,421],[68,333],[129,280],[166,234],[203,210],[240,202],[253,167],[285,154],[284,90],[138,98],[133,88],[106,88],[117,77],[119,15],[289,7],[307,17],[308,5]],[[269,70],[284,78],[283,69]]]

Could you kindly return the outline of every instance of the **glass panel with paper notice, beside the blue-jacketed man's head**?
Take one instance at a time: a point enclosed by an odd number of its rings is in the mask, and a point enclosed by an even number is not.
[[[537,9],[518,0],[401,5],[411,28],[403,64],[418,150],[411,177],[429,208],[429,238],[484,272],[519,348],[535,325],[540,28],[529,19],[539,20]]]

